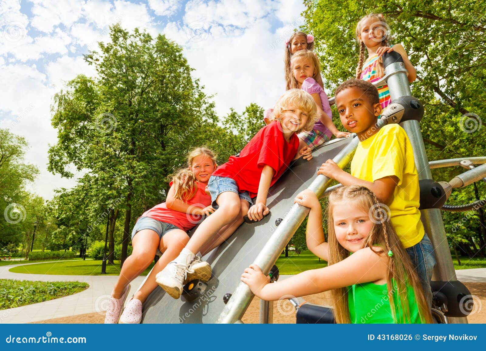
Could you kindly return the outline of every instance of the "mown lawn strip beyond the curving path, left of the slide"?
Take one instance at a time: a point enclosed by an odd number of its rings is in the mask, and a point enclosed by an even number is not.
[[[114,265],[106,263],[107,275],[119,275],[120,274],[120,260],[115,260]],[[13,267],[9,270],[14,273],[30,273],[30,274],[56,274],[56,275],[102,275],[101,264],[102,260],[72,260],[66,262],[50,262],[40,265],[27,265]],[[141,275],[147,275],[154,267],[154,262],[145,269]]]

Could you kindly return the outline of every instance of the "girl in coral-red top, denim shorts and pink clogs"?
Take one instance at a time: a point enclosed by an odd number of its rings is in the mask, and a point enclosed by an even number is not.
[[[199,223],[204,215],[215,211],[211,206],[211,197],[205,190],[216,167],[216,156],[211,150],[192,150],[188,156],[188,169],[174,175],[166,201],[139,217],[132,231],[133,252],[124,262],[111,293],[105,323],[140,323],[142,303],[157,286],[156,274],[174,260],[188,243],[187,231]],[[163,255],[121,313],[130,282],[150,266],[157,249]],[[196,259],[194,265],[197,266],[199,262]],[[190,272],[188,277],[191,278]]]

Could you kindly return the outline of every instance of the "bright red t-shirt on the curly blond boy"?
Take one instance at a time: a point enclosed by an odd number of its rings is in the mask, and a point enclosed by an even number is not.
[[[268,165],[274,169],[270,183],[273,186],[299,149],[297,135],[292,134],[290,142],[287,142],[281,129],[278,121],[261,128],[243,148],[240,156],[230,156],[229,161],[218,167],[212,175],[234,179],[240,192],[248,191],[254,198],[258,195],[261,170]]]

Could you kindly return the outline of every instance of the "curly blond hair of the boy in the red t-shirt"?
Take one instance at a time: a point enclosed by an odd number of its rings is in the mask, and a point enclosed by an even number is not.
[[[311,94],[302,89],[290,89],[283,93],[275,103],[274,110],[268,119],[270,121],[278,120],[289,104],[293,104],[295,107],[307,112],[306,124],[295,133],[311,131],[318,118],[317,107]]]

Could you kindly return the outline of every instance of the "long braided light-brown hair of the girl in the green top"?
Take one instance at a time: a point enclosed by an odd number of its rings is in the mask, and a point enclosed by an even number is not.
[[[408,283],[414,289],[421,320],[426,323],[432,323],[430,307],[424,297],[423,288],[415,272],[415,267],[403,248],[397,233],[393,229],[389,216],[386,214],[382,204],[378,201],[375,194],[364,186],[342,186],[330,193],[329,206],[327,208],[329,265],[333,265],[349,257],[349,251],[337,241],[332,211],[335,204],[339,202],[349,203],[351,201],[368,212],[374,223],[371,231],[364,239],[361,248],[369,247],[378,255],[382,253],[387,254],[389,250],[393,252],[393,256],[389,258],[386,279],[388,301],[390,302],[393,318],[397,323],[404,323],[410,320],[411,316],[407,296]],[[374,247],[376,246],[380,246],[383,249],[375,251]],[[395,291],[398,295],[397,301],[393,297]],[[347,294],[347,287],[331,290],[331,297],[334,303],[334,317],[337,323],[351,322]],[[403,320],[397,320],[398,316],[395,313],[396,303],[403,309]]]

